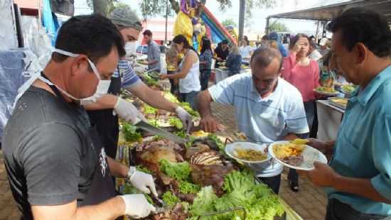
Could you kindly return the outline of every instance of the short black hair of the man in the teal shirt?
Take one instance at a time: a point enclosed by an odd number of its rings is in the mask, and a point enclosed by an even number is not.
[[[364,9],[348,9],[328,24],[328,31],[341,31],[341,42],[348,50],[357,43],[363,43],[377,57],[391,53],[391,31],[385,16]]]

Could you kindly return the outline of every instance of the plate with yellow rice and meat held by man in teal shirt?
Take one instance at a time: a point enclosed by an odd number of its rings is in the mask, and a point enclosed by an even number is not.
[[[306,140],[277,141],[269,145],[269,154],[279,163],[296,170],[314,170],[314,162],[327,163],[321,151],[306,145]]]

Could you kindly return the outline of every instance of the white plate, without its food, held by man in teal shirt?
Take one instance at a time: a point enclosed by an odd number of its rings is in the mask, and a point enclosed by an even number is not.
[[[303,161],[303,163],[301,163],[301,165],[294,166],[294,165],[289,165],[287,163],[284,163],[282,160],[279,160],[279,158],[277,158],[276,155],[274,155],[274,151],[273,151],[273,146],[276,144],[281,144],[281,143],[289,143],[289,141],[277,141],[277,142],[272,143],[271,145],[269,145],[269,154],[272,155],[272,158],[277,160],[279,163],[282,163],[282,165],[284,165],[286,167],[291,167],[296,170],[314,170],[314,161],[315,160],[317,160],[318,162],[321,162],[321,163],[327,163],[326,156],[323,155],[323,153],[321,153],[321,151],[316,150],[315,148],[313,148],[309,145],[306,145],[306,148],[304,148],[304,150],[303,150],[302,155],[303,155],[304,161]]]

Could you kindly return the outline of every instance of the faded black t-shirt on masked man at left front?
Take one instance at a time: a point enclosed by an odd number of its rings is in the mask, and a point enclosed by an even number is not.
[[[97,165],[85,144],[90,122],[85,110],[31,87],[19,99],[4,129],[6,171],[23,219],[31,205],[80,205]]]

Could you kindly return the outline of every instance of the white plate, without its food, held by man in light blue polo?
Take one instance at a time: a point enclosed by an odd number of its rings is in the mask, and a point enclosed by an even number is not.
[[[256,144],[256,143],[238,141],[238,142],[235,142],[235,143],[228,144],[225,147],[225,153],[227,153],[227,155],[229,155],[231,158],[234,158],[235,160],[238,160],[238,161],[243,162],[243,163],[263,163],[263,162],[265,162],[267,160],[270,160],[272,158],[269,155],[269,153],[266,153],[267,154],[267,158],[264,159],[264,160],[256,160],[256,161],[242,160],[242,159],[236,157],[235,149],[252,149],[252,150],[259,150],[259,151],[262,151],[264,153],[264,149],[266,149],[266,148],[267,148],[267,145],[259,145],[259,144]]]

